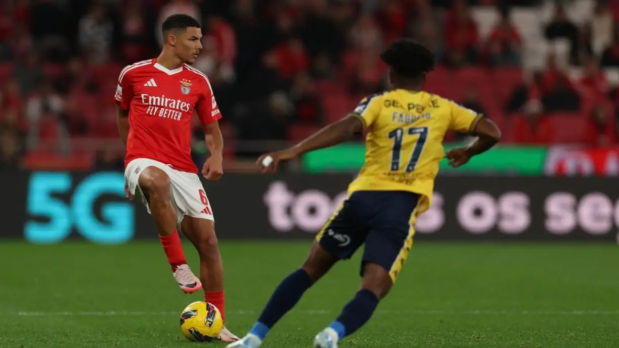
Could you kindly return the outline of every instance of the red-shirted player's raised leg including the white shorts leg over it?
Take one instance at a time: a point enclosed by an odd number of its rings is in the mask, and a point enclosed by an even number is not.
[[[165,171],[165,164],[150,159],[135,159],[125,171],[129,190],[136,194],[139,190],[152,215],[168,263],[176,282],[184,292],[195,292],[202,285],[191,272],[183,252],[176,226],[178,211],[171,196],[171,181]]]

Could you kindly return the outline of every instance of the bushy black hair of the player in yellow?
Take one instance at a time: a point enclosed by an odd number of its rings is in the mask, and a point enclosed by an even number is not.
[[[418,79],[434,69],[434,54],[425,46],[410,38],[393,41],[381,59],[397,75],[407,79]]]

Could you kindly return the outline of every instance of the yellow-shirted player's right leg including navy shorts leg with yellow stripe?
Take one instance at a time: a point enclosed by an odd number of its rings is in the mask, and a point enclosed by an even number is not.
[[[370,320],[408,257],[418,201],[419,196],[409,192],[374,194],[373,204],[382,208],[372,219],[366,239],[359,291],[337,319],[316,336],[314,347],[336,348],[340,339],[355,333]]]

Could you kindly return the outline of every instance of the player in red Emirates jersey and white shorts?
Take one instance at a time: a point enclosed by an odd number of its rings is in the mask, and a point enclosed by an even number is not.
[[[200,119],[210,157],[202,174],[222,176],[222,117],[209,79],[189,66],[202,49],[200,25],[175,14],[162,25],[162,53],[125,67],[116,89],[118,131],[127,148],[125,189],[139,195],[155,220],[163,250],[181,290],[196,292],[224,314],[223,265],[215,236],[213,211],[191,159],[191,118]],[[191,240],[200,256],[200,279],[185,259],[178,232]],[[224,328],[222,341],[238,340]]]

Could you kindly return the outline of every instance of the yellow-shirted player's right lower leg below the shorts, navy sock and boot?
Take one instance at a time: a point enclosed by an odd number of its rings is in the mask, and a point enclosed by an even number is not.
[[[340,316],[316,336],[314,348],[337,348],[340,339],[350,336],[370,320],[379,300],[387,295],[392,285],[386,269],[376,263],[366,263],[357,295],[348,302]]]

